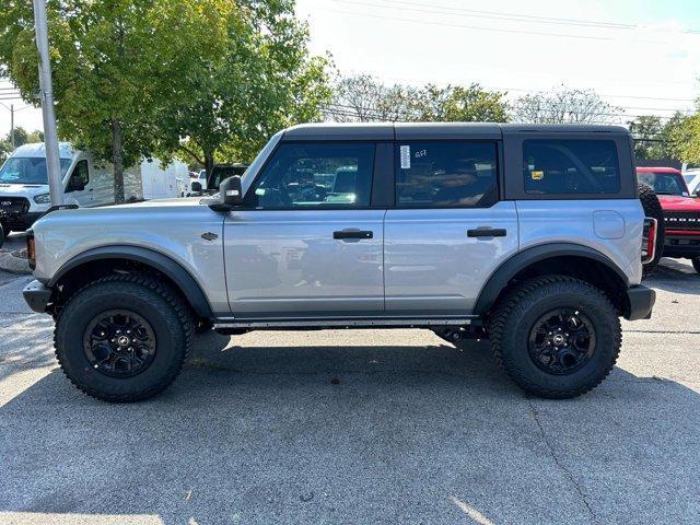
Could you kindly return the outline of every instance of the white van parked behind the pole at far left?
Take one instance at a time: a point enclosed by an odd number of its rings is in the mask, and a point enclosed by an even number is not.
[[[65,203],[94,207],[114,203],[112,165],[95,161],[70,143],[59,144]],[[141,174],[125,171],[125,200],[143,198]],[[24,144],[0,168],[0,223],[5,233],[24,231],[50,207],[44,143]]]

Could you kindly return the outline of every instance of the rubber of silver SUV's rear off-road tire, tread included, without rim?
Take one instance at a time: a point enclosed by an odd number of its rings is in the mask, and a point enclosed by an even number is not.
[[[534,324],[558,307],[576,308],[585,314],[596,337],[588,361],[564,375],[542,371],[528,352]],[[622,341],[617,311],[605,293],[565,276],[538,277],[516,285],[497,304],[489,330],[499,368],[525,392],[552,399],[576,397],[596,387],[615,366]]]

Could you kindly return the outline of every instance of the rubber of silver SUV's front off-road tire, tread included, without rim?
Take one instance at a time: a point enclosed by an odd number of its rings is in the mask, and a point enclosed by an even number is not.
[[[153,361],[138,375],[105,375],[93,370],[83,351],[89,323],[110,308],[135,312],[155,334]],[[167,284],[144,275],[110,275],[70,298],[58,315],[54,345],[61,370],[79,389],[105,401],[130,402],[161,393],[177,377],[191,349],[192,334],[187,304]]]

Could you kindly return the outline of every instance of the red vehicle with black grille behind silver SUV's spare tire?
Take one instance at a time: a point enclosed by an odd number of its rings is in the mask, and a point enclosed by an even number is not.
[[[664,212],[664,257],[687,258],[700,273],[700,198],[673,167],[638,167],[637,177],[657,195]]]

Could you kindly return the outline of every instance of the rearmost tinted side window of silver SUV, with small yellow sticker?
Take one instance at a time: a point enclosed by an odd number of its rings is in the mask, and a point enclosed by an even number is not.
[[[525,140],[525,192],[617,194],[620,168],[612,140]]]

